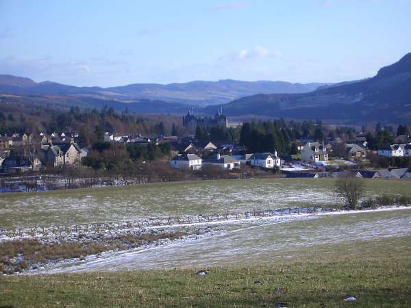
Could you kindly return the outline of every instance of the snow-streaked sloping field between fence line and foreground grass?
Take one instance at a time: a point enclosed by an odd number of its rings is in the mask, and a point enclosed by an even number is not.
[[[211,236],[92,256],[79,264],[62,264],[36,273],[264,264],[294,257],[298,248],[410,235],[411,209],[393,207],[219,224],[221,231]]]

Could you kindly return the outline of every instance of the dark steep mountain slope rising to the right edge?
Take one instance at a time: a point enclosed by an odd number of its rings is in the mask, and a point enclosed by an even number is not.
[[[351,123],[366,120],[411,121],[411,53],[377,75],[360,81],[321,86],[305,94],[257,94],[225,104],[230,116],[321,118]],[[214,113],[215,107],[205,112]]]

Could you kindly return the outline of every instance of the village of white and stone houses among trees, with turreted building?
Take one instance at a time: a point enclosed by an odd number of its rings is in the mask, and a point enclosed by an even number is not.
[[[286,136],[286,144],[283,144],[282,149],[276,149],[275,146],[279,146],[275,143],[271,148],[262,144],[260,149],[273,151],[250,152],[251,146],[247,146],[243,137],[249,123],[233,125],[223,115],[222,110],[218,111],[214,118],[197,117],[190,111],[183,117],[183,124],[196,129],[196,133],[188,136],[142,136],[106,131],[101,133],[97,146],[84,146],[77,131],[12,133],[11,136],[0,136],[0,174],[6,176],[50,170],[58,173],[59,170],[67,168],[109,168],[107,163],[97,164],[98,159],[92,157],[93,153],[105,157],[107,154],[102,154],[101,149],[112,149],[113,146],[115,148],[119,145],[127,149],[129,156],[135,157],[139,164],[145,164],[145,157],[151,157],[151,161],[184,172],[214,168],[232,175],[242,175],[253,170],[254,174],[260,172],[275,177],[318,178],[338,177],[348,170],[356,177],[411,178],[411,138],[405,125],[399,126],[397,136],[391,136],[377,127],[384,138],[394,141],[392,144],[384,142],[384,146],[377,149],[375,145],[374,149],[371,149],[371,137],[362,131],[351,132],[351,136],[346,138],[332,137],[334,131],[331,131],[326,137],[322,132],[317,133],[319,127],[314,125],[314,138],[292,140]],[[240,138],[232,142],[216,142],[211,140],[207,131],[210,127],[223,132],[231,129],[240,134]],[[286,129],[280,128],[279,135],[281,132],[286,133]],[[91,154],[88,155],[90,151]],[[140,153],[147,151],[153,154]],[[113,155],[112,159],[119,159],[118,154],[117,158],[116,153]]]

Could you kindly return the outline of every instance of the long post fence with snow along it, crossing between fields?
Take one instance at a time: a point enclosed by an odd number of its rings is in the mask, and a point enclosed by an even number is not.
[[[71,233],[103,233],[127,229],[145,229],[151,227],[182,226],[186,224],[206,224],[229,220],[247,220],[253,218],[269,218],[284,215],[318,214],[340,209],[321,207],[295,207],[285,209],[252,209],[251,211],[229,212],[224,214],[198,214],[194,216],[174,216],[166,218],[147,218],[143,220],[128,220],[123,222],[93,222],[84,224],[53,224],[51,226],[33,226],[26,228],[0,229],[0,239],[7,236],[47,236],[68,235]]]

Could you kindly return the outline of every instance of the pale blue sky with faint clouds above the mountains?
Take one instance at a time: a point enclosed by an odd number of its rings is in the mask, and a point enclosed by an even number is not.
[[[411,52],[411,0],[0,0],[0,74],[339,82]]]

